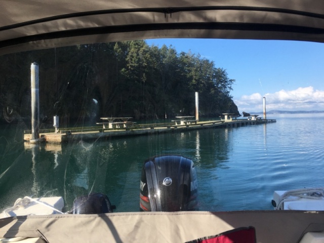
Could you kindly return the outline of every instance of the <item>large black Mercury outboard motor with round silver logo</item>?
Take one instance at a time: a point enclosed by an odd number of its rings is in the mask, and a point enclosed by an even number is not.
[[[191,159],[162,155],[144,162],[140,185],[141,211],[197,210],[197,174]]]

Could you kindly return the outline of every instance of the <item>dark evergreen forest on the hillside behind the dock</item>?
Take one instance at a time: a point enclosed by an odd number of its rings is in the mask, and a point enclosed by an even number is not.
[[[235,113],[234,79],[213,61],[172,46],[145,41],[79,45],[0,57],[3,121],[30,119],[30,64],[39,65],[40,117],[66,125],[95,123],[103,116],[164,119]]]

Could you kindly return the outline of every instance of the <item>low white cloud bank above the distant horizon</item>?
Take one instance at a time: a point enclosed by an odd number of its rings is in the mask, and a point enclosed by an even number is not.
[[[244,95],[234,102],[240,112],[257,112],[263,110],[263,97],[266,97],[267,110],[324,110],[324,91],[314,90],[311,86],[263,96],[259,93]]]

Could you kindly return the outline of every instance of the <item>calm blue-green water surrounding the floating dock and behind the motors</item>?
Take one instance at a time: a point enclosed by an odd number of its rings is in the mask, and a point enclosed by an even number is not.
[[[60,195],[70,209],[102,192],[115,212],[139,211],[143,161],[166,153],[194,161],[204,211],[271,210],[274,190],[324,186],[324,114],[267,118],[277,123],[35,146],[22,142],[23,125],[3,126],[0,209],[25,195]]]

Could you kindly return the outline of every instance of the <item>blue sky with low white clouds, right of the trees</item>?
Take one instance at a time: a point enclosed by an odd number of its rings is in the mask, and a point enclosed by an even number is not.
[[[324,110],[324,44],[232,39],[149,39],[148,45],[200,54],[235,79],[239,112]]]

